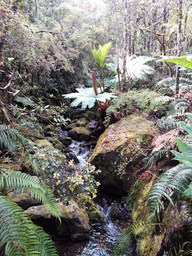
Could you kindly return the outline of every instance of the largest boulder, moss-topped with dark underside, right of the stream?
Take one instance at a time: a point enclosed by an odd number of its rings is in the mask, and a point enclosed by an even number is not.
[[[100,189],[123,196],[138,178],[136,172],[142,167],[142,159],[146,156],[144,151],[138,154],[140,143],[144,147],[150,146],[153,134],[157,134],[153,122],[146,118],[146,114],[140,113],[124,117],[100,136],[88,160],[102,171],[98,177]],[[115,172],[120,168],[121,179]]]

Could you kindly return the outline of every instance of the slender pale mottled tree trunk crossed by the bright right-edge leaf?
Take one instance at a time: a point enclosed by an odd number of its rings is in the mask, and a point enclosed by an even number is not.
[[[181,56],[182,46],[181,46],[181,22],[182,22],[182,0],[179,0],[179,10],[178,10],[178,32],[177,32],[177,43],[178,52],[177,56]],[[175,76],[175,94],[179,93],[179,68],[176,65],[176,76]]]

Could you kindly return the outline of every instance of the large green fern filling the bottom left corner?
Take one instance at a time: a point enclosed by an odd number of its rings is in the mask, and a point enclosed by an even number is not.
[[[5,256],[58,256],[50,236],[22,208],[0,196],[0,247]]]

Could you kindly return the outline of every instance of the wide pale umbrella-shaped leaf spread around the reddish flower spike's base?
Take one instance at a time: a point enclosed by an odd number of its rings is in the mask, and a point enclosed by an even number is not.
[[[95,95],[92,88],[79,88],[76,89],[78,92],[70,93],[70,94],[64,94],[65,98],[72,99],[76,98],[72,103],[71,107],[76,107],[79,104],[82,104],[82,108],[92,108],[97,101],[100,102],[106,102],[106,100],[110,100],[111,98],[116,98],[117,96],[114,96],[112,93],[104,92],[103,94]]]

